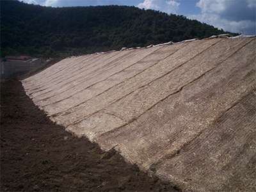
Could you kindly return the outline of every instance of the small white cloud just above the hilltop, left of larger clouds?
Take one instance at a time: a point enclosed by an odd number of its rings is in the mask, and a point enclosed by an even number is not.
[[[179,4],[176,1],[166,0],[145,0],[143,3],[138,4],[138,8],[145,8],[151,10],[158,10],[165,13],[176,13],[179,9]]]

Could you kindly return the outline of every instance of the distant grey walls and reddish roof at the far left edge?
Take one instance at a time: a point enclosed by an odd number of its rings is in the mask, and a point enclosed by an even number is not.
[[[31,58],[31,56],[5,56],[1,58],[1,78],[10,77],[15,74],[25,74],[44,63],[39,58]]]

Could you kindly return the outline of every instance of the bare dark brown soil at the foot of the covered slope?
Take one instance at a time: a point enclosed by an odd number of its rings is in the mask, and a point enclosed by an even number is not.
[[[1,79],[1,191],[179,191],[115,150],[51,122],[17,79]]]

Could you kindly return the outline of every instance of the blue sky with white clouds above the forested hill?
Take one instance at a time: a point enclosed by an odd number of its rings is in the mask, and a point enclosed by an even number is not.
[[[21,1],[21,0],[20,0]],[[255,0],[23,0],[42,6],[128,5],[184,15],[216,28],[256,35]]]

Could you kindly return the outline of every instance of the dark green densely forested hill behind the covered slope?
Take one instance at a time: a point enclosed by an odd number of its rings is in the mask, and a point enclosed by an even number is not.
[[[145,47],[226,33],[213,26],[134,6],[52,8],[1,1],[1,57],[56,57]]]

